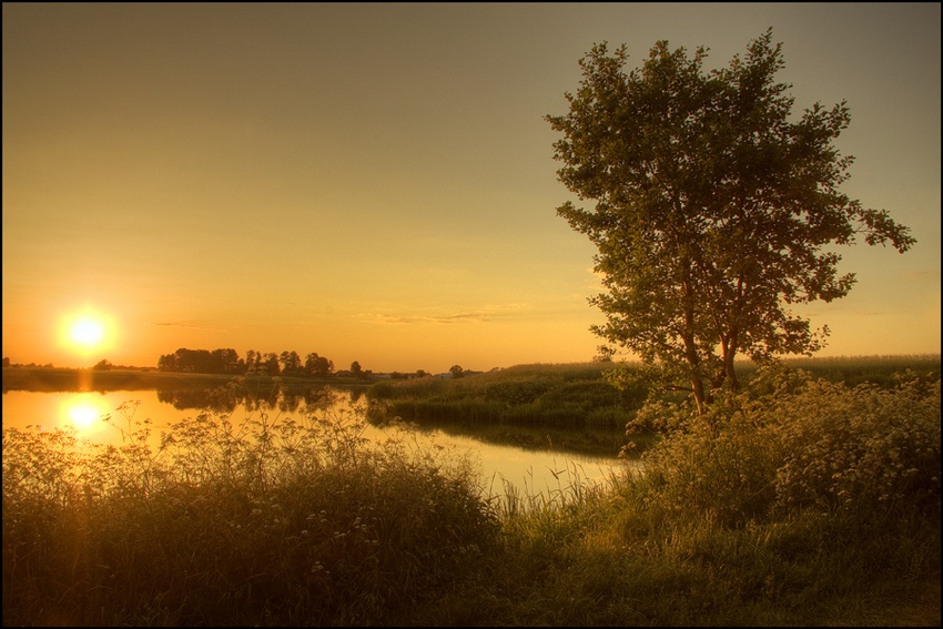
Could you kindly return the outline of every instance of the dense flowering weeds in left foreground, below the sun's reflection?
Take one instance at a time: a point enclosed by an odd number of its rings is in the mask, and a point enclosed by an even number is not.
[[[361,625],[453,581],[495,541],[474,469],[356,415],[204,413],[155,452],[3,430],[3,620]],[[120,426],[120,422],[115,422]]]

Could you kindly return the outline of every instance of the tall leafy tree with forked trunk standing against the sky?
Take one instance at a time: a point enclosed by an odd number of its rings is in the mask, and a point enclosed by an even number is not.
[[[743,59],[702,71],[667,41],[625,73],[626,47],[604,42],[584,57],[569,113],[546,120],[562,139],[560,181],[595,210],[557,213],[598,247],[606,315],[592,329],[685,383],[703,412],[713,388],[739,387],[733,359],[811,355],[812,331],[790,305],[843,297],[854,274],[838,274],[832,245],[862,234],[903,253],[915,243],[884,210],[839,192],[852,156],[832,145],[850,123],[844,102],[815,103],[791,119],[790,84],[772,29]]]

